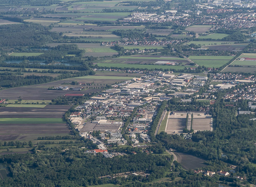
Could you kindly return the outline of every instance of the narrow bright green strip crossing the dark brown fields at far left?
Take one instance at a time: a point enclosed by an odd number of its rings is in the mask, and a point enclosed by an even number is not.
[[[0,118],[1,123],[65,123],[61,118]]]

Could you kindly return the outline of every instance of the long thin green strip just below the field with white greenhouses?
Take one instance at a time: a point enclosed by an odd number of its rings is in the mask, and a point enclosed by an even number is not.
[[[139,68],[139,69],[184,69],[185,66],[169,66],[169,65],[143,65],[143,64],[119,64],[119,63],[97,63],[98,66],[116,67],[116,68]],[[194,67],[194,66],[189,66]],[[88,77],[88,76],[87,76]]]

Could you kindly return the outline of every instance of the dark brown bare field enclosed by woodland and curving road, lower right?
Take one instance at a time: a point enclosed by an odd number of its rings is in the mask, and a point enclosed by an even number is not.
[[[204,164],[205,160],[203,159],[184,153],[174,152],[174,154],[177,156],[177,162],[186,170],[206,167],[206,164]]]

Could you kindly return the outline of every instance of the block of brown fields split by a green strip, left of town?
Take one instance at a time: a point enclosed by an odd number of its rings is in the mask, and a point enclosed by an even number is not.
[[[70,107],[0,107],[0,140],[35,141],[39,136],[68,135],[70,130],[62,116]]]

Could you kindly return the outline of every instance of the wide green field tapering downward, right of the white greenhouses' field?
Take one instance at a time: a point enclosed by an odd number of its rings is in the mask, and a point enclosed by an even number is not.
[[[229,62],[232,58],[231,56],[190,56],[193,62],[198,65],[204,65],[208,68],[219,68],[222,65]]]

